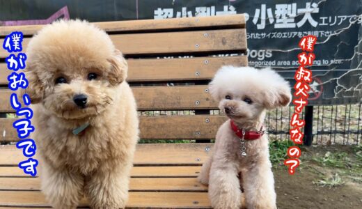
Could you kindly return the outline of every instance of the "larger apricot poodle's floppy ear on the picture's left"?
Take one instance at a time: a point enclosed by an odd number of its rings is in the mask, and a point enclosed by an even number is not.
[[[31,100],[31,104],[36,104],[42,100],[44,95],[44,88],[38,75],[36,75],[36,72],[34,72],[32,68],[33,66],[29,63],[24,70],[25,77],[29,82],[28,87],[25,89],[20,88],[18,91],[21,96],[23,96],[25,93],[28,94]]]

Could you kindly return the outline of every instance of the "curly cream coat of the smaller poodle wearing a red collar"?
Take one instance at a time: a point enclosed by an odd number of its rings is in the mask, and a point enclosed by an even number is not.
[[[260,130],[265,111],[286,106],[292,98],[288,82],[269,68],[224,66],[210,83],[210,93],[219,101],[219,109],[228,109],[228,118],[247,131]],[[214,208],[275,209],[267,134],[246,140],[247,155],[243,157],[230,119],[219,128],[212,155],[203,164],[198,180],[209,185]]]

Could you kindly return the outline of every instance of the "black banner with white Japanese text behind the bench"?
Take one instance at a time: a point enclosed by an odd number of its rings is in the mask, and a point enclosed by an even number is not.
[[[347,104],[362,95],[362,5],[356,0],[0,0],[0,25],[90,22],[245,13],[249,65],[271,66],[294,84],[298,42],[317,37],[309,104]],[[228,56],[226,54],[226,56]]]

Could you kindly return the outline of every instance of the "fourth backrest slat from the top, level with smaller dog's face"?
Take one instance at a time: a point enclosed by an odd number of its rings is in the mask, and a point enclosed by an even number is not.
[[[207,86],[149,86],[132,87],[139,110],[217,109]],[[14,91],[0,89],[0,112],[14,112],[10,94]]]

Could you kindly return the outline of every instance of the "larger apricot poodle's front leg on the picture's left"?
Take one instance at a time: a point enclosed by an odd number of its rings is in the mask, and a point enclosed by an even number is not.
[[[81,198],[84,178],[68,170],[55,170],[42,162],[41,189],[56,209],[75,209]]]

